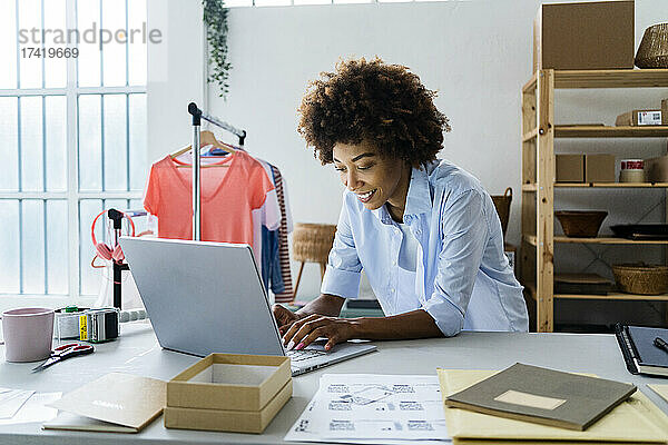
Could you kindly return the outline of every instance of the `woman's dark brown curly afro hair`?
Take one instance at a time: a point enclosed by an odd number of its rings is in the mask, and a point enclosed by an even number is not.
[[[340,61],[308,83],[298,108],[297,131],[323,165],[333,162],[336,144],[373,144],[383,157],[412,167],[436,158],[449,120],[406,67],[381,59]]]

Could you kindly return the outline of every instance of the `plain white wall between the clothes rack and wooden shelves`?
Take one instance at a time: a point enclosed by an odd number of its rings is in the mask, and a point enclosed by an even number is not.
[[[299,138],[296,109],[308,80],[333,70],[340,58],[380,56],[410,67],[428,88],[439,90],[436,106],[453,128],[441,156],[474,172],[492,194],[508,186],[517,192],[518,85],[531,71],[531,33],[517,29],[527,29],[534,8],[521,14],[490,6],[473,1],[234,9],[230,95],[223,101],[209,89],[209,107],[246,128],[250,152],[282,169],[296,221],[335,224],[343,187],[332,166],[322,167]],[[499,169],[499,162],[505,167]],[[518,233],[518,224],[511,226],[511,239]],[[307,271],[303,297],[318,290],[317,267]]]

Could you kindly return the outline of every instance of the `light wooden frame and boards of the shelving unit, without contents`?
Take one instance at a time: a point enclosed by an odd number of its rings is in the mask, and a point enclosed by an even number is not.
[[[521,281],[536,300],[538,332],[552,332],[554,298],[668,301],[668,295],[554,294],[554,243],[599,245],[668,245],[668,240],[625,238],[568,238],[554,236],[556,188],[664,188],[668,182],[556,182],[554,138],[667,138],[668,126],[556,126],[554,89],[668,87],[668,69],[540,70],[522,87],[522,253]]]

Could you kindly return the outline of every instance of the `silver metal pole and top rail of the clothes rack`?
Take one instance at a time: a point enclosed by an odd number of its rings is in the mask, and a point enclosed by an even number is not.
[[[233,135],[238,136],[239,138],[239,147],[244,146],[246,140],[246,130],[239,130],[238,128],[233,127],[232,125],[222,121],[220,119],[213,117],[199,108],[197,108],[197,103],[190,102],[188,103],[188,112],[193,116],[193,240],[198,241],[202,238],[200,234],[200,162],[199,162],[199,127],[202,126],[202,119],[212,122],[213,125],[220,127],[224,130],[232,132]]]

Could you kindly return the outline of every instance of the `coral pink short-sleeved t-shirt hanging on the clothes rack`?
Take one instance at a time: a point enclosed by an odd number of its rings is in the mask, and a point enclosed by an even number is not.
[[[202,240],[253,246],[253,210],[261,208],[274,185],[263,166],[244,151],[202,169]],[[166,156],[151,166],[144,208],[158,217],[160,238],[193,239],[190,168]]]

